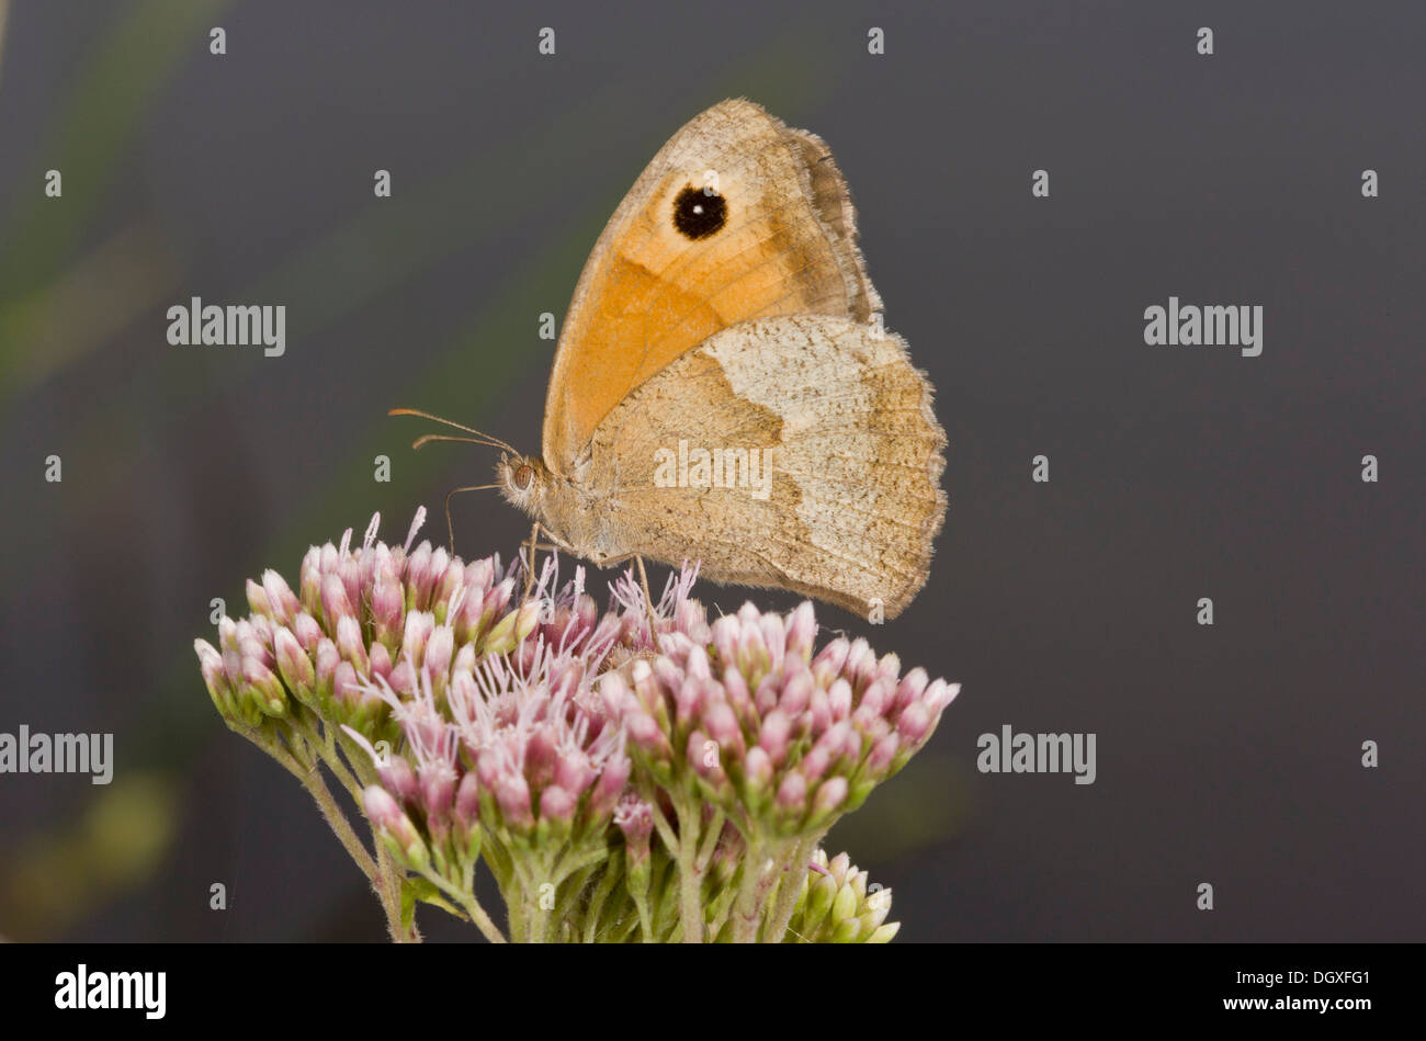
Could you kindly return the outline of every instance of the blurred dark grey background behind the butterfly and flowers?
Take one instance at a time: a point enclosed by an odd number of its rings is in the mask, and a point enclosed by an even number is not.
[[[836,153],[951,441],[920,599],[820,617],[964,692],[831,850],[904,940],[1423,937],[1420,4],[0,10],[0,730],[117,757],[107,789],[0,776],[4,935],[384,938],[191,642],[372,511],[399,539],[425,503],[443,538],[441,493],[492,458],[412,453],[389,406],[535,451],[538,315],[665,138],[746,96]],[[285,304],[285,357],[170,347],[191,295]],[[1262,305],[1262,357],[1147,347],[1169,295]],[[466,555],[525,530],[458,502]],[[978,774],[1005,723],[1097,733],[1097,783]]]

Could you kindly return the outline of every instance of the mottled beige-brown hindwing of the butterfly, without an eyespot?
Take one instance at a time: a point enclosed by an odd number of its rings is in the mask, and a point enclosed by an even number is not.
[[[588,486],[607,489],[629,552],[893,617],[927,579],[944,446],[931,388],[894,334],[819,315],[753,319],[599,424]],[[699,471],[699,449],[726,465]],[[770,463],[766,496],[760,466],[743,463],[753,449],[750,463]]]

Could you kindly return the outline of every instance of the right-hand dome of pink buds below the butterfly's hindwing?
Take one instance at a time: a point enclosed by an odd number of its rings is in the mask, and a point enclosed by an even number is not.
[[[610,673],[602,693],[660,784],[696,790],[744,833],[826,830],[925,743],[957,687],[903,677],[861,639],[814,655],[816,635],[810,603],[787,617],[747,603],[660,636],[653,662],[632,682]]]

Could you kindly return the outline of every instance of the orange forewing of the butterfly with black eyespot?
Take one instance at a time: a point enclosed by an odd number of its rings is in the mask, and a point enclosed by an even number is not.
[[[821,140],[750,101],[714,106],[659,151],[585,265],[549,382],[545,462],[570,473],[615,405],[720,329],[877,309]]]

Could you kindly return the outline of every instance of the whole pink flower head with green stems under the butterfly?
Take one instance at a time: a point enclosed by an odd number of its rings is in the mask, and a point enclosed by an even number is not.
[[[820,848],[930,737],[957,687],[866,640],[816,647],[810,603],[709,620],[696,569],[657,603],[626,575],[469,563],[422,542],[312,548],[297,592],[195,642],[218,712],[317,799],[395,938],[416,901],[515,940],[881,941],[890,898]],[[327,790],[361,806],[375,856]]]

